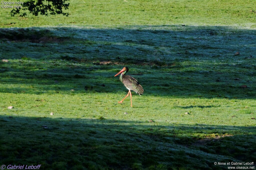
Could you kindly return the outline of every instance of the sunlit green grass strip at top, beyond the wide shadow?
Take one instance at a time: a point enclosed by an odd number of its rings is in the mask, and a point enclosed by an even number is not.
[[[1,8],[0,27],[193,24],[256,28],[254,0],[70,0],[69,3],[69,17],[28,13],[25,18],[11,17],[10,8]]]

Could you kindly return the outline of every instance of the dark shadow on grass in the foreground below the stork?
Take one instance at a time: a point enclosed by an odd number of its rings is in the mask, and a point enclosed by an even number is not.
[[[223,169],[214,162],[256,158],[255,127],[1,115],[0,128],[0,163],[5,165]]]

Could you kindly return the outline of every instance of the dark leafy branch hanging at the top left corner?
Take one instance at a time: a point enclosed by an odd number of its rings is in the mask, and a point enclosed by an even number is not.
[[[56,15],[62,14],[64,16],[68,16],[68,13],[63,12],[63,9],[68,9],[69,3],[66,3],[68,0],[29,0],[22,4],[22,8],[12,9],[11,16],[15,16],[19,14],[19,16],[25,17],[27,13],[26,10],[29,11],[32,15],[37,16],[41,15]],[[23,12],[24,11],[24,12]]]

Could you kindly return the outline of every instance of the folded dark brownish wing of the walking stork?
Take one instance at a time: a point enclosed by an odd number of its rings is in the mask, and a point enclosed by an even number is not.
[[[123,78],[123,83],[124,86],[136,91],[138,94],[143,94],[144,90],[142,88],[142,86],[140,85],[140,83],[133,77],[125,75]]]

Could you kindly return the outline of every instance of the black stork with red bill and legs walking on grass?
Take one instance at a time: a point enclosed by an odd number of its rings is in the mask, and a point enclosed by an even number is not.
[[[119,80],[124,84],[124,86],[126,87],[126,89],[129,90],[128,94],[123,98],[123,100],[129,96],[131,96],[131,107],[132,107],[132,93],[131,90],[135,91],[136,93],[138,93],[139,95],[143,94],[144,90],[142,88],[142,86],[140,85],[140,83],[133,78],[132,76],[128,76],[125,75],[127,72],[129,71],[128,67],[124,67],[119,73],[117,73],[115,76],[119,75],[120,73],[122,73],[119,77]],[[118,103],[122,103],[123,100],[121,100]]]

